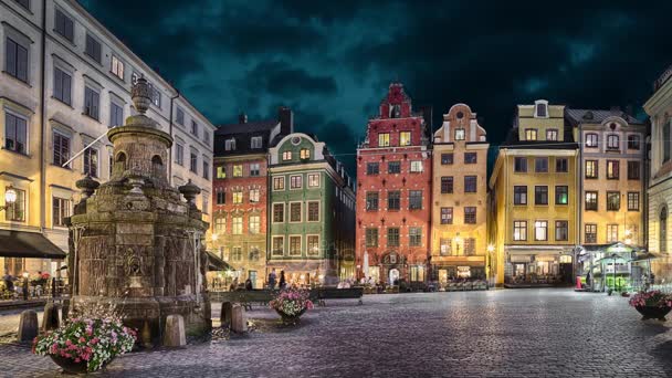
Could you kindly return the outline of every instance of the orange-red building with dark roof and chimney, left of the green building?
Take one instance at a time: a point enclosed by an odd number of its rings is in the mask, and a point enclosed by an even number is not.
[[[279,111],[279,118],[221,125],[214,135],[212,182],[212,237],[208,249],[232,267],[239,282],[250,279],[263,287],[267,255],[269,171],[272,143],[293,133],[293,114]],[[213,276],[209,280],[214,279]],[[221,282],[218,280],[218,282]]]

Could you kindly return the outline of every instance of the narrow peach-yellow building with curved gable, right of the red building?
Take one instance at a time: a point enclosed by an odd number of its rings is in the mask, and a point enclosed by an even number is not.
[[[464,104],[453,105],[434,133],[431,271],[440,284],[491,275],[486,235],[489,147],[485,129]]]

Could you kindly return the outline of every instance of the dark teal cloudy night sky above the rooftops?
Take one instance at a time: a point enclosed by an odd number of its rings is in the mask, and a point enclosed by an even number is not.
[[[210,120],[295,112],[354,171],[391,81],[434,128],[459,102],[498,145],[516,104],[641,105],[672,64],[672,1],[82,0]]]

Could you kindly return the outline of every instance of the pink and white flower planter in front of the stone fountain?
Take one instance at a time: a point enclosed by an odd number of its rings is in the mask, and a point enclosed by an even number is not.
[[[35,337],[33,353],[50,356],[66,372],[86,374],[130,351],[135,342],[136,332],[124,326],[120,316],[102,312],[70,318],[60,328]]]

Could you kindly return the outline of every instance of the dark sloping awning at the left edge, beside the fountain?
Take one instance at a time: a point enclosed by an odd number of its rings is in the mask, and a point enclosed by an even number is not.
[[[0,256],[65,259],[65,252],[39,232],[0,230]]]

